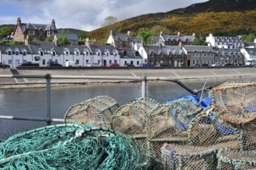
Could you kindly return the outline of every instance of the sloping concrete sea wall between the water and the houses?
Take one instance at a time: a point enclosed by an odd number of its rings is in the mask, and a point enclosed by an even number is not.
[[[198,79],[232,79],[256,80],[256,68],[253,66],[239,67],[199,67],[199,68],[22,68],[17,70],[0,69],[0,75],[12,74],[26,75],[75,75],[75,76],[168,76],[178,80]],[[51,80],[51,83],[100,83],[117,80]],[[0,88],[8,86],[28,86],[45,84],[42,79],[30,78],[0,78]],[[118,81],[120,82],[120,81]],[[45,85],[44,85],[45,86]]]

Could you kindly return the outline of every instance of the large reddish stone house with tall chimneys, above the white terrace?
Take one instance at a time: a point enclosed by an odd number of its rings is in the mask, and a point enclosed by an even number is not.
[[[33,40],[44,41],[47,36],[54,36],[57,33],[54,19],[51,24],[32,24],[22,23],[21,19],[17,19],[16,27],[12,33],[15,41],[24,41],[27,36],[31,36]]]

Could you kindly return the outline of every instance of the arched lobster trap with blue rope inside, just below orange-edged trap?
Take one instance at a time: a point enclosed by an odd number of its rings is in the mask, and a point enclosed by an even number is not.
[[[212,148],[238,147],[234,126],[219,119],[213,107],[202,111],[191,122],[189,144]]]

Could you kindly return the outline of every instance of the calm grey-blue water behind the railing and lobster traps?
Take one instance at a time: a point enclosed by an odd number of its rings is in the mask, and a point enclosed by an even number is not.
[[[227,80],[208,80],[207,85],[216,87]],[[204,80],[182,81],[190,89],[200,89]],[[130,100],[141,97],[141,83],[102,84],[90,86],[54,87],[51,88],[51,115],[64,118],[68,108],[81,101],[97,96],[109,96],[122,106]],[[147,83],[147,97],[164,104],[166,100],[189,94],[176,83]],[[45,88],[0,90],[0,115],[46,117],[47,100]],[[20,131],[29,131],[46,126],[45,122],[12,121],[0,119],[0,139],[9,138]]]

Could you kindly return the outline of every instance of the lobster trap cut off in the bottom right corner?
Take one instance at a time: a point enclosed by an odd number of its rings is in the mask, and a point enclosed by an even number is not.
[[[256,169],[255,151],[233,151],[230,148],[222,148],[217,153],[218,169]]]

